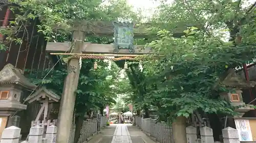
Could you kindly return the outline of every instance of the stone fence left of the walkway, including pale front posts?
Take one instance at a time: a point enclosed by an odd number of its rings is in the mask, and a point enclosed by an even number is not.
[[[91,139],[97,130],[106,126],[106,117],[100,118],[100,123],[98,124],[97,119],[89,119],[83,122],[81,128],[81,134],[79,138],[79,143],[87,142]],[[97,129],[99,128],[99,129]],[[2,133],[1,143],[18,143],[20,142],[20,131],[21,129],[15,126],[8,127],[4,129]],[[36,125],[30,128],[28,141],[23,141],[22,143],[55,143],[56,142],[57,127],[55,125],[48,126],[46,128],[46,134],[44,134],[44,127]],[[70,137],[70,143],[74,140],[74,130],[72,131]]]

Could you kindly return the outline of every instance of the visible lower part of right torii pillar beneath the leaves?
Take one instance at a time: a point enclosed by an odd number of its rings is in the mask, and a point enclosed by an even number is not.
[[[180,116],[177,117],[175,122],[173,122],[174,143],[187,143],[186,120],[187,119],[185,117]]]

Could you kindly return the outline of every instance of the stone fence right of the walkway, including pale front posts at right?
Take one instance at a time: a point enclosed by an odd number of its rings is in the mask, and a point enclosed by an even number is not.
[[[135,117],[135,125],[156,142],[174,143],[172,127],[164,122]],[[197,138],[197,129],[193,126],[186,127],[187,143],[219,143],[219,141],[214,141],[212,129],[209,127],[200,128],[200,134],[201,138]],[[227,127],[222,130],[222,134],[223,143],[240,143],[237,129]]]

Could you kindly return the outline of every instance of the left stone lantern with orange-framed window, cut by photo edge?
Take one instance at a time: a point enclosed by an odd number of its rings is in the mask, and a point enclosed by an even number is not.
[[[19,117],[10,118],[15,112],[27,108],[27,105],[20,103],[24,90],[34,90],[36,85],[31,83],[22,70],[7,64],[0,71],[0,135],[7,126],[19,125]],[[10,118],[10,119],[9,119]],[[8,123],[7,123],[8,122]]]

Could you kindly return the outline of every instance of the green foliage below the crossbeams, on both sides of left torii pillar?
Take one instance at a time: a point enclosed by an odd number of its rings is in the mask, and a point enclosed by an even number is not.
[[[112,104],[116,94],[113,90],[113,85],[116,85],[120,69],[112,64],[110,67],[105,67],[106,63],[98,62],[98,69],[92,70],[92,60],[83,60],[82,68],[80,70],[78,88],[76,90],[76,111],[86,112],[90,108],[104,107],[106,104]],[[44,76],[50,71],[31,71],[28,77],[36,84],[44,85],[45,87],[55,91],[58,95],[62,94],[63,81],[65,81],[67,70],[66,66],[55,68],[45,78]],[[30,71],[28,71],[30,72]],[[111,78],[108,77],[111,75]]]

